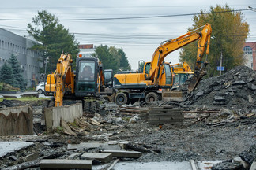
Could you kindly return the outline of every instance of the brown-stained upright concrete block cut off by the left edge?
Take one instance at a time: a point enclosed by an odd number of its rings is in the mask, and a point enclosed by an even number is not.
[[[0,136],[32,135],[33,113],[30,105],[0,109]]]

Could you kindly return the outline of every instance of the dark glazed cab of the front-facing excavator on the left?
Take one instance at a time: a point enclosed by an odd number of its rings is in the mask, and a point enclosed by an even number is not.
[[[77,97],[96,96],[98,62],[96,58],[77,58],[75,95]]]

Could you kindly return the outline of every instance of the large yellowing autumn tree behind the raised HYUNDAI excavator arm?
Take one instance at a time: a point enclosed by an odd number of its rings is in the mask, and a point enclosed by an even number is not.
[[[209,46],[209,65],[207,70],[209,76],[214,76],[218,72],[216,67],[220,65],[220,55],[223,56],[223,66],[225,71],[237,65],[243,65],[243,44],[247,39],[249,25],[243,21],[243,13],[228,12],[231,8],[226,6],[210,7],[210,13],[201,14],[193,17],[194,24],[188,31],[199,28],[206,23],[212,26],[212,37]],[[190,66],[194,66],[197,56],[198,42],[193,42],[184,46],[180,52],[180,61],[186,61]]]

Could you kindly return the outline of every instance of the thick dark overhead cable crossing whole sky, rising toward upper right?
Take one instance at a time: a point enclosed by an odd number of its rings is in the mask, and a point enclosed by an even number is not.
[[[219,11],[214,13],[233,13],[233,12],[241,12],[250,9],[236,9],[236,10],[228,10],[228,11]],[[109,17],[109,18],[81,18],[81,19],[59,19],[61,21],[81,21],[81,20],[130,20],[130,19],[147,19],[147,18],[160,18],[160,17],[185,17],[191,15],[200,15],[200,14],[209,14],[208,13],[183,13],[183,14],[174,14],[174,15],[158,15],[158,16],[145,16],[145,17]],[[7,19],[0,18],[0,20],[11,20],[11,21],[29,21],[31,19]]]

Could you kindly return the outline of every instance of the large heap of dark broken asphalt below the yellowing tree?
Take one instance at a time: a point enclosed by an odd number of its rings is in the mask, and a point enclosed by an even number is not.
[[[204,79],[183,105],[224,106],[250,111],[256,108],[256,72],[246,66]]]

